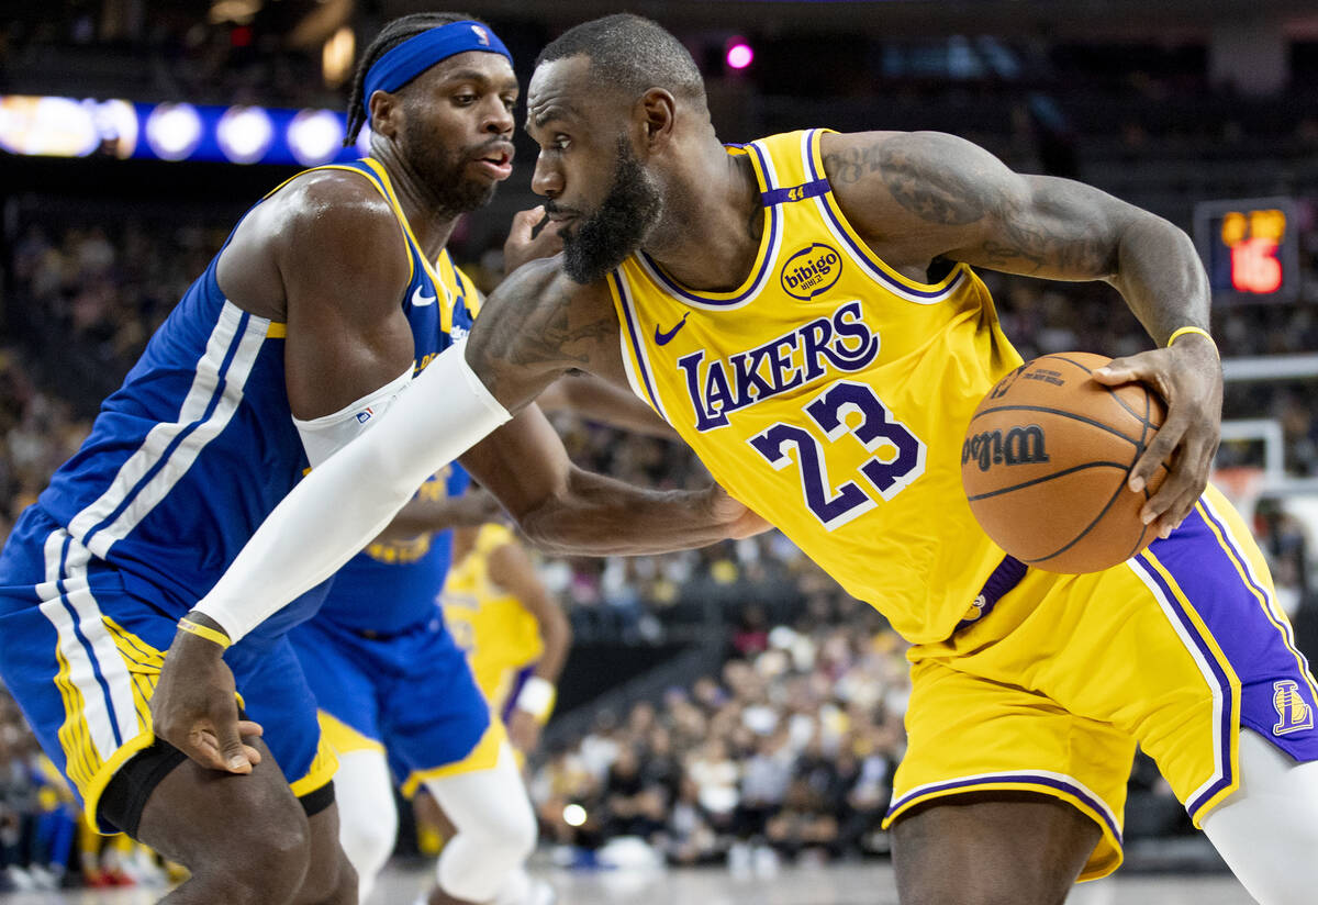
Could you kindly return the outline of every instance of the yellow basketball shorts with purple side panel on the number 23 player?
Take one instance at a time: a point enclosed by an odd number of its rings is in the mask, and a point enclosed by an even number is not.
[[[908,748],[884,825],[958,793],[1053,796],[1103,833],[1081,880],[1122,862],[1136,746],[1195,825],[1239,784],[1242,726],[1318,760],[1309,664],[1263,553],[1213,487],[1135,559],[1083,576],[1029,569],[909,659]]]

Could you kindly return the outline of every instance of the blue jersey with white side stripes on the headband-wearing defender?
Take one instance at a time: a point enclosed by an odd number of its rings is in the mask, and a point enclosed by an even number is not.
[[[411,256],[399,304],[419,369],[471,325],[463,299],[426,260],[384,167],[368,158],[319,169],[360,174],[393,207]],[[109,564],[128,591],[174,613],[211,589],[307,468],[285,390],[286,325],[225,299],[217,263],[188,287],[37,502],[90,552],[94,572]],[[452,269],[447,254],[439,267]],[[318,603],[312,591],[265,632]]]

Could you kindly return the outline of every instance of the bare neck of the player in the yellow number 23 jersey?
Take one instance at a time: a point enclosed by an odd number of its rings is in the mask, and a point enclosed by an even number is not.
[[[646,240],[646,252],[691,288],[741,286],[763,232],[764,207],[750,158],[728,154],[717,140],[702,144],[667,190],[663,219]]]

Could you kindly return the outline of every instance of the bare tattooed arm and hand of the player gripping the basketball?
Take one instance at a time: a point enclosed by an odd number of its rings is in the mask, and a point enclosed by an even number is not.
[[[879,257],[924,279],[936,257],[1050,279],[1111,283],[1161,346],[1181,327],[1207,329],[1207,277],[1189,237],[1166,220],[1091,186],[1021,175],[983,149],[932,132],[826,134],[824,170],[844,213]],[[1207,483],[1222,419],[1217,348],[1185,335],[1170,348],[1119,358],[1095,377],[1143,381],[1168,402],[1162,429],[1131,470],[1143,490],[1159,462],[1170,474],[1141,516],[1162,536]]]

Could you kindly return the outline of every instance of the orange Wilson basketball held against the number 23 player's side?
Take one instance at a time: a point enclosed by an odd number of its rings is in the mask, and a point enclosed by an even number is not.
[[[1048,572],[1099,572],[1157,535],[1126,482],[1166,415],[1141,383],[1090,377],[1111,358],[1064,352],[1029,361],[983,398],[961,447],[961,483],[985,532],[1021,562]]]

